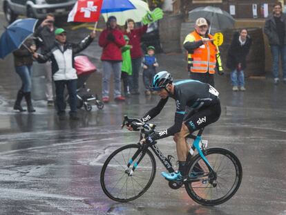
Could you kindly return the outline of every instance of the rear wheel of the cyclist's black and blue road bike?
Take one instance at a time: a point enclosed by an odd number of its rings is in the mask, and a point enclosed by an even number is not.
[[[204,156],[213,167],[214,173],[197,154],[187,168],[191,180],[196,181],[186,183],[185,188],[189,196],[200,205],[220,205],[238,190],[242,180],[242,167],[238,158],[227,149],[206,149]]]

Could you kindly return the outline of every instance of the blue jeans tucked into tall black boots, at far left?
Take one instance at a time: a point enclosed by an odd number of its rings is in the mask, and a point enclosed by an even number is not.
[[[22,80],[21,91],[23,91],[23,93],[30,92],[32,88],[32,66],[16,66],[15,70]]]

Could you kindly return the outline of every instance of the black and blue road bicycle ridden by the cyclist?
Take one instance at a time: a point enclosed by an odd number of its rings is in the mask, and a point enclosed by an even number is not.
[[[129,119],[127,116],[124,116],[122,128],[125,125],[138,127],[140,140],[155,131],[155,124]],[[187,137],[194,140],[187,156],[187,178],[169,181],[169,187],[184,187],[187,194],[200,205],[220,205],[238,191],[242,166],[240,160],[227,149],[207,149],[207,144],[202,142],[202,131],[200,129],[197,135]],[[113,151],[104,162],[100,183],[106,196],[119,202],[128,202],[139,198],[149,189],[156,173],[156,162],[150,149],[169,173],[174,171],[171,164],[173,156],[164,156],[157,142],[128,144]]]

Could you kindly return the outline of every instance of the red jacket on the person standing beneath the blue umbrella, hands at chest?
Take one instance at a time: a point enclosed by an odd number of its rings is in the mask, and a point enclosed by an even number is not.
[[[115,37],[114,41],[108,40],[106,37],[109,33],[112,33]],[[122,61],[121,47],[125,46],[126,42],[123,37],[121,30],[117,28],[109,30],[105,29],[99,35],[99,46],[103,48],[102,50],[102,60],[114,60]]]

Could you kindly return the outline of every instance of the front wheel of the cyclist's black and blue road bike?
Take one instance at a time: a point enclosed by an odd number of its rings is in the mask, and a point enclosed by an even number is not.
[[[132,159],[136,152],[138,155]],[[128,163],[132,163],[130,167]],[[131,171],[133,167],[135,170]],[[100,183],[106,196],[119,202],[128,202],[149,189],[155,173],[156,163],[151,151],[147,149],[143,155],[140,145],[129,144],[108,156],[102,167]]]

